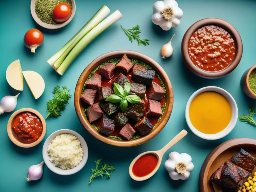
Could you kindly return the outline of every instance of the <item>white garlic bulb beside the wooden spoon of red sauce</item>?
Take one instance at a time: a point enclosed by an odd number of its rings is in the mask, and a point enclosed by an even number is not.
[[[194,169],[194,164],[191,161],[192,158],[187,153],[172,152],[164,165],[171,179],[186,180]]]

